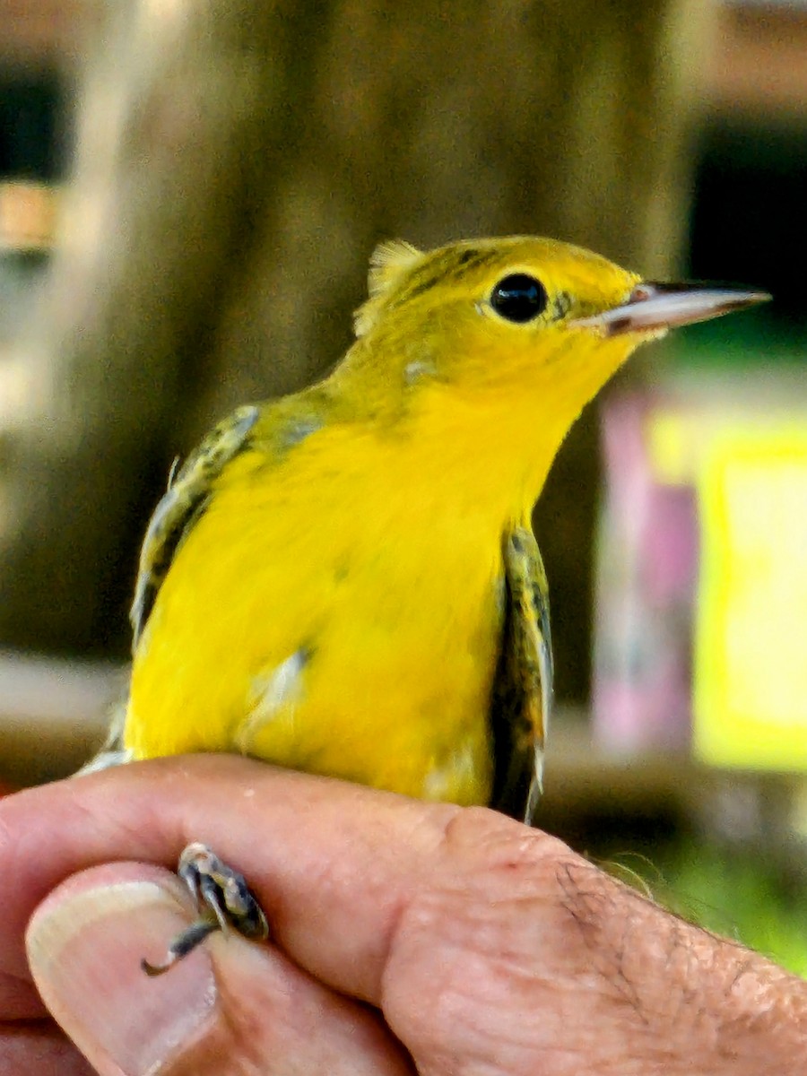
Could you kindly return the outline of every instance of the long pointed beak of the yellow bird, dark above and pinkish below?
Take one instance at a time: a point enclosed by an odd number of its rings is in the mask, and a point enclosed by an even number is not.
[[[662,332],[679,325],[706,322],[734,310],[767,302],[767,292],[721,284],[637,284],[627,302],[591,317],[578,317],[572,328],[599,329],[603,336]]]

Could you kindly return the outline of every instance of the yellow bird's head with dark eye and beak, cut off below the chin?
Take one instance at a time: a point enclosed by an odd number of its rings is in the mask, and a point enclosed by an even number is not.
[[[590,251],[515,236],[423,253],[382,243],[356,335],[419,377],[485,390],[547,390],[582,380],[594,392],[646,340],[764,301],[748,288],[662,284]],[[581,385],[582,387],[582,385]]]

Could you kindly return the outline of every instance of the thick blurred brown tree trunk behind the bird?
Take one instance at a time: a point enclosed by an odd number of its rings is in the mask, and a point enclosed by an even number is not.
[[[56,653],[126,650],[172,457],[343,351],[379,239],[537,232],[669,270],[705,38],[696,0],[113,6],[0,444],[0,640]],[[596,456],[590,416],[537,520],[566,697]]]

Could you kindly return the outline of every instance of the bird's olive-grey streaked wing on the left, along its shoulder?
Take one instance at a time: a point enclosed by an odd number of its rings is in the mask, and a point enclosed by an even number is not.
[[[259,413],[255,406],[233,411],[208,434],[179,472],[169,479],[168,490],[154,510],[140,552],[134,600],[129,613],[132,649],[143,633],[180,543],[204,511],[211,486],[225,464],[247,444]]]

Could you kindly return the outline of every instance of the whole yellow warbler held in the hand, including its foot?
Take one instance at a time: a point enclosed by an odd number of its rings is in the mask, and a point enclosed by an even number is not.
[[[530,513],[550,465],[638,344],[764,298],[548,239],[383,243],[334,371],[239,408],[157,506],[124,756],[239,752],[530,821],[552,702]],[[216,896],[167,964],[227,918],[265,929],[210,850],[181,872]]]

